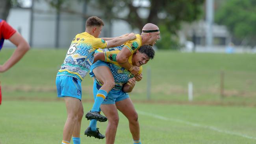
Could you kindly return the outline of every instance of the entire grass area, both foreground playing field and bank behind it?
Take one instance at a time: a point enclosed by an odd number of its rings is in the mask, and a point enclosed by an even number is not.
[[[3,49],[0,64],[13,50]],[[0,75],[1,144],[60,143],[66,120],[62,99],[56,98],[55,77],[66,50],[32,49],[17,65]],[[158,51],[143,67],[143,80],[130,94],[139,113],[143,144],[256,143],[255,54],[202,54]],[[147,100],[147,69],[151,69],[151,97]],[[224,71],[224,98],[220,72]],[[187,102],[187,83],[194,100]],[[92,79],[82,82],[84,111],[92,103]],[[82,143],[104,144],[83,136]],[[98,125],[104,133],[106,123]],[[128,122],[120,114],[116,144],[131,144]]]

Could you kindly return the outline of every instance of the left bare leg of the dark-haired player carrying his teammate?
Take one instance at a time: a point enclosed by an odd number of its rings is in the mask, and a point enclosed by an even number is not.
[[[115,104],[103,104],[100,109],[108,118],[108,127],[106,129],[106,144],[114,144],[115,135],[117,133],[117,126],[119,116]]]

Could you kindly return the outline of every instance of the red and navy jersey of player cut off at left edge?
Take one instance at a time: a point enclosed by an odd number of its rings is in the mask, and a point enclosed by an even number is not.
[[[5,20],[0,19],[0,50],[3,47],[4,39],[9,39],[16,30],[14,30]]]

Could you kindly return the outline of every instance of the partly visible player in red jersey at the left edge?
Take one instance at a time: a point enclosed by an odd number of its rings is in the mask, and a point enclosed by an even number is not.
[[[0,72],[9,70],[15,65],[26,52],[30,49],[28,42],[20,35],[20,33],[14,30],[5,20],[0,19],[0,50],[3,47],[4,39],[9,39],[17,49],[13,52],[13,55],[4,63],[0,65]],[[2,101],[2,93],[0,87],[0,104]]]

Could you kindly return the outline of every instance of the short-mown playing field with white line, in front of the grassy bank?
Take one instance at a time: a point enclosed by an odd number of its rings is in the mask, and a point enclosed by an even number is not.
[[[83,103],[88,110],[92,103]],[[253,144],[255,108],[135,103],[144,144]],[[119,114],[116,144],[131,144],[128,121]],[[66,120],[64,102],[4,101],[0,109],[2,144],[58,144]],[[104,144],[85,137],[89,121],[82,120],[83,144]],[[106,123],[98,123],[102,133]],[[217,129],[213,130],[213,129]],[[250,137],[250,138],[246,138]]]

